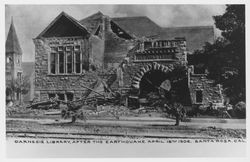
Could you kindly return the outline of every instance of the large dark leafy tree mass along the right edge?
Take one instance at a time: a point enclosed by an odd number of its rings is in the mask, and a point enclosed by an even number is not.
[[[225,13],[214,20],[222,37],[195,51],[190,64],[208,69],[209,77],[223,85],[231,103],[245,101],[245,6],[227,5]]]

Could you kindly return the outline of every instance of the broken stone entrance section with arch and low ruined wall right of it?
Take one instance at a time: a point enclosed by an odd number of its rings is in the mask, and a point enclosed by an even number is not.
[[[175,100],[184,105],[218,106],[223,103],[222,88],[207,74],[195,74],[187,65],[186,40],[144,41],[138,45],[126,63],[119,68],[120,89],[133,98],[143,98],[152,91],[165,88]],[[162,87],[168,81],[168,87]],[[117,81],[118,82],[118,81]],[[115,86],[114,86],[115,87]],[[171,100],[171,98],[169,98]]]

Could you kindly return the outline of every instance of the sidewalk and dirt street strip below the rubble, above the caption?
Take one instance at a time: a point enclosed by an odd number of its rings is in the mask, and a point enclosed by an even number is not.
[[[117,122],[103,120],[90,120],[87,122],[53,120],[15,120],[6,122],[7,137],[15,136],[15,133],[34,134],[65,134],[65,138],[71,134],[79,135],[100,135],[100,136],[135,136],[155,138],[246,138],[245,129],[222,129],[216,127],[196,127],[192,125],[174,126],[174,121],[162,122],[153,121],[151,124],[145,121],[129,123],[127,121]]]

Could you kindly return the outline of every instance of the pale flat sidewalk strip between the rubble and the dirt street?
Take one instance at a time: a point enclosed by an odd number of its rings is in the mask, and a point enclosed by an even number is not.
[[[7,118],[8,120],[37,122],[39,124],[60,124],[69,123],[70,120],[54,120],[54,119],[23,119],[23,118]],[[137,118],[123,117],[119,120],[115,119],[88,119],[87,121],[77,120],[79,124],[99,125],[99,126],[124,126],[124,127],[166,127],[175,124],[174,119],[166,118]],[[194,129],[200,128],[222,128],[222,129],[246,129],[246,121],[244,119],[203,119],[192,118],[188,122],[180,122],[180,126],[188,126]]]

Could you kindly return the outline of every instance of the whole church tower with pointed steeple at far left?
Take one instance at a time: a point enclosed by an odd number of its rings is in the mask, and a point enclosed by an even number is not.
[[[13,83],[22,81],[22,49],[20,47],[16,29],[11,20],[5,44],[5,76],[6,76],[6,100],[20,101],[21,94],[13,92],[11,89]]]

